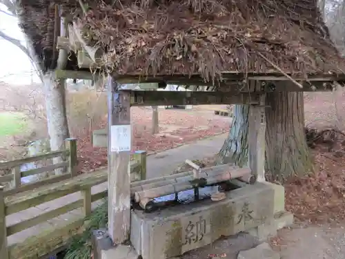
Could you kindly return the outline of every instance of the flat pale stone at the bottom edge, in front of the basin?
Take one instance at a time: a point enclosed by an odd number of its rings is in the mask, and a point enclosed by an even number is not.
[[[240,251],[237,259],[280,259],[280,255],[265,242],[253,249]]]

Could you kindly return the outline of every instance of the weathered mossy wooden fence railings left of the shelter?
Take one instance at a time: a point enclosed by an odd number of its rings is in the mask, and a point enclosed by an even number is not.
[[[10,189],[0,186],[0,258],[1,259],[21,259],[39,258],[55,249],[65,245],[70,238],[83,229],[84,219],[92,211],[92,202],[101,200],[107,196],[107,191],[92,194],[92,186],[96,186],[108,180],[108,172],[95,171],[85,175],[77,174],[77,143],[76,140],[66,140],[66,150],[50,152],[44,155],[26,157],[22,160],[0,163],[0,168],[11,168],[12,174],[1,176],[1,181],[12,182]],[[30,171],[20,171],[21,164],[36,162],[43,159],[57,156],[66,157],[60,164],[44,166]],[[39,180],[30,184],[21,184],[21,178],[27,175],[34,175],[58,168],[68,167],[68,171],[63,175],[52,176],[45,180]],[[137,151],[132,154],[130,161],[132,180],[146,179],[146,152]],[[6,216],[24,211],[39,204],[50,202],[62,198],[72,193],[81,193],[79,199],[70,202],[57,209],[52,209],[35,215],[28,220],[23,220],[8,226]],[[59,215],[64,215],[70,211],[80,209],[82,213],[66,222],[57,229],[43,231],[37,236],[27,238],[24,242],[8,246],[7,238],[14,233],[29,229]]]

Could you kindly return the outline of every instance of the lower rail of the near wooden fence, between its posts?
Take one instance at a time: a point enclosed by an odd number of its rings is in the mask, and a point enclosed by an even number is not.
[[[83,206],[83,200],[77,200],[76,202],[66,204],[65,206],[60,207],[58,209],[54,209],[52,211],[42,213],[41,215],[37,215],[34,218],[21,221],[17,224],[12,224],[11,226],[7,227],[7,235],[11,236],[14,233],[23,231],[25,229],[29,229],[30,227],[34,227],[37,224],[41,224],[42,222],[46,222],[48,220],[51,220],[52,218],[56,218],[59,215],[63,215],[65,213],[68,213],[69,211],[73,211],[82,206]]]

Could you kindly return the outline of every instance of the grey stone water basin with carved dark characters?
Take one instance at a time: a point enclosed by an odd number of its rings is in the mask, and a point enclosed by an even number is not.
[[[257,182],[204,200],[153,213],[132,211],[130,240],[143,259],[166,259],[204,247],[221,236],[253,229],[273,218],[274,191]]]

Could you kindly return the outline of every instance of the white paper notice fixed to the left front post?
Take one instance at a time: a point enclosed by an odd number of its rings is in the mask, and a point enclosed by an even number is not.
[[[110,131],[110,151],[130,151],[132,137],[130,125],[112,125]]]

